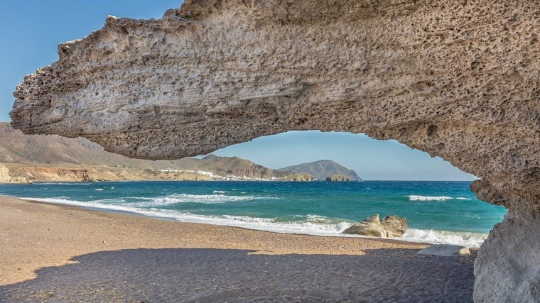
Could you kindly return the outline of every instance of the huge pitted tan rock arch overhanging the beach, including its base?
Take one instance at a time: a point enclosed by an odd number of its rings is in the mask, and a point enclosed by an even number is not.
[[[188,0],[159,20],[109,17],[60,45],[58,62],[17,87],[11,124],[146,159],[290,130],[393,138],[481,177],[478,197],[514,222],[497,233],[534,233],[539,28],[535,1]],[[539,240],[494,235],[475,299],[540,296],[527,287],[540,280],[527,252]],[[497,270],[510,260],[515,270]]]

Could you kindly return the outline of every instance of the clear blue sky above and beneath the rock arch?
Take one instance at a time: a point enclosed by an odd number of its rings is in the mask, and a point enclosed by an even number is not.
[[[0,121],[9,121],[12,92],[24,75],[58,59],[59,43],[101,28],[107,15],[161,18],[179,0],[0,0]],[[279,168],[334,160],[365,180],[474,180],[441,158],[364,135],[289,132],[217,150]]]

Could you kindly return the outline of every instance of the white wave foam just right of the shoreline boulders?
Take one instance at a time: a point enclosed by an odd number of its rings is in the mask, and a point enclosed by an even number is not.
[[[480,247],[486,238],[486,233],[407,228],[400,240],[430,244],[453,244],[467,247]]]

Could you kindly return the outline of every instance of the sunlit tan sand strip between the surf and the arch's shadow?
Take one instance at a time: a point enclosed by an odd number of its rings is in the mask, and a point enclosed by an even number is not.
[[[82,227],[85,228],[76,230]],[[110,230],[114,234],[107,234],[109,228],[114,228]],[[185,223],[11,197],[0,197],[0,230],[4,250],[1,255],[7,257],[0,260],[0,285],[31,279],[38,268],[68,264],[76,255],[102,250],[175,247],[244,249],[272,255],[362,255],[362,250],[370,248],[420,250],[429,246],[383,238],[312,236]],[[215,236],[217,233],[219,237]],[[140,238],[134,239],[134,234]],[[239,238],[243,241],[233,241]],[[312,247],[300,245],[306,242]],[[28,255],[18,258],[18,251]]]

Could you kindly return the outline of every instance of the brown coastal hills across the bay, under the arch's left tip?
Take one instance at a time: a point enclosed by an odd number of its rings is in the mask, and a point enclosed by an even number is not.
[[[291,174],[237,157],[208,155],[202,159],[131,159],[106,152],[101,146],[84,138],[24,135],[11,128],[9,123],[0,123],[0,166],[7,167],[11,177],[21,176],[37,181],[208,179],[180,170],[202,170],[220,176],[252,178]]]

